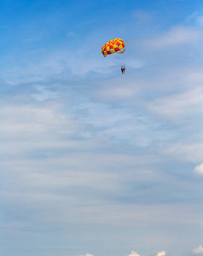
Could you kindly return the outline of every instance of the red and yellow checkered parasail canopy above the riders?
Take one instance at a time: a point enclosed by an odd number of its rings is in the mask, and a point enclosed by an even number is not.
[[[102,46],[102,55],[107,57],[107,55],[111,55],[113,53],[122,54],[125,52],[125,42],[120,38],[112,39]]]

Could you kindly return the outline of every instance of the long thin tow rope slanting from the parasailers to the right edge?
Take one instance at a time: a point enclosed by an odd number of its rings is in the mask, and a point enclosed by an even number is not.
[[[138,83],[137,80],[135,79],[135,77],[129,72],[128,69],[125,68],[125,70],[127,71],[127,73],[129,73],[131,75],[131,78],[134,79],[134,81],[136,82],[137,85],[140,86],[140,88],[143,90],[143,92],[148,96],[148,98],[154,103],[155,107],[157,109],[159,109],[159,113],[162,114],[162,116],[165,117],[165,119],[167,119],[171,125],[177,129],[177,131],[181,134],[181,136],[186,140],[186,142],[188,143],[188,145],[190,145],[191,148],[194,148],[194,150],[199,154],[199,156],[203,159],[203,154],[202,152],[196,148],[194,146],[194,144],[188,139],[188,137],[183,133],[183,131],[174,123],[174,121],[169,117],[169,115],[167,115],[164,110],[162,108],[159,107],[159,105],[157,104],[157,102],[154,101],[154,98],[148,93],[148,91],[142,86],[142,84]]]

